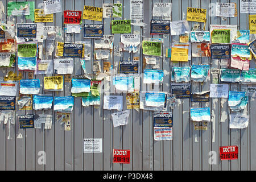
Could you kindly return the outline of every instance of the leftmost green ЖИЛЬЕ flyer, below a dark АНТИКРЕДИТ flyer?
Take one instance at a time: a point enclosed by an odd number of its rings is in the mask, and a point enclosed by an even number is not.
[[[37,51],[36,44],[18,44],[19,57],[35,57]]]

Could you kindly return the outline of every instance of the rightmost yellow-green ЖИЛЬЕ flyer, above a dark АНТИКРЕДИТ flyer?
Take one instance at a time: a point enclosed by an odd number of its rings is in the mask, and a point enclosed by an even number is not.
[[[214,29],[212,31],[212,43],[230,43],[230,30]]]

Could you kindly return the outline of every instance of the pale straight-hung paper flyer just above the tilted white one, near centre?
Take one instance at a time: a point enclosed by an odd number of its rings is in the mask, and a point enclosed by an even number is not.
[[[123,110],[123,96],[104,96],[103,109]]]

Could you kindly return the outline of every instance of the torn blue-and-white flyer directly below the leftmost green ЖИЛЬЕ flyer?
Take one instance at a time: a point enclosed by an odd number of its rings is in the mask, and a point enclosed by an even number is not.
[[[18,57],[19,70],[36,70],[36,57]]]

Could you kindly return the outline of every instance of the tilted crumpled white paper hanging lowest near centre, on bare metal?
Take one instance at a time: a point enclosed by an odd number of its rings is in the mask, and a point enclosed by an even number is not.
[[[117,113],[111,114],[112,121],[113,121],[113,127],[127,125],[129,115],[130,115],[130,110],[119,111]]]

